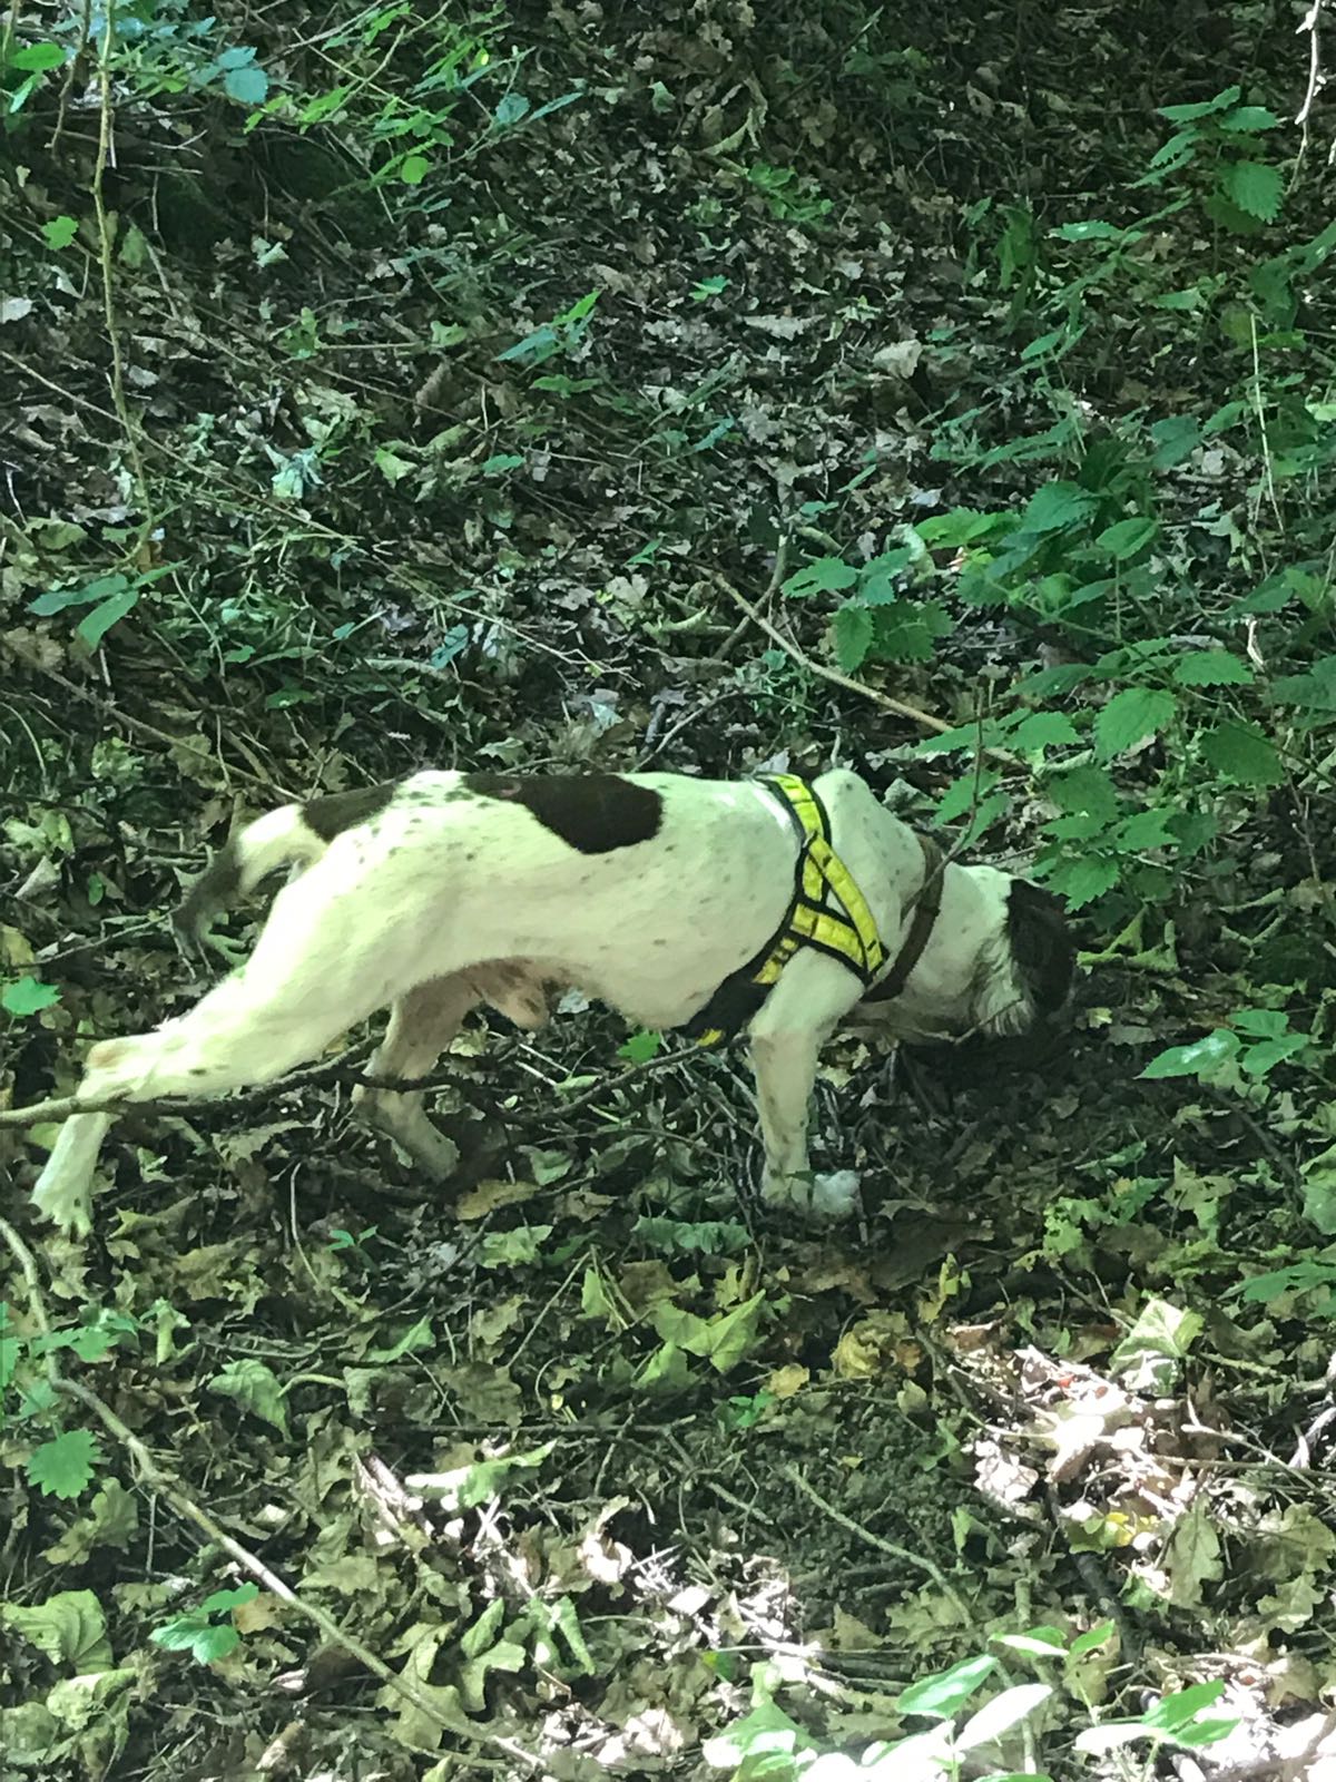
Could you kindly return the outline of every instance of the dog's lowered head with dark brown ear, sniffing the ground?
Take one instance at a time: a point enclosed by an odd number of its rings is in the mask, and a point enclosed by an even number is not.
[[[998,879],[1006,916],[980,946],[971,985],[971,1026],[985,1037],[1058,1023],[1076,969],[1076,943],[1058,898],[1028,879]]]

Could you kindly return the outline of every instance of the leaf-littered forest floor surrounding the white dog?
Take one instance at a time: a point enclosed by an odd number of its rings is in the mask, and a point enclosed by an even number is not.
[[[876,691],[964,723],[1063,649],[951,608],[869,697],[782,572],[1022,506],[999,447],[1056,408],[1017,365],[1021,212],[1124,221],[1156,107],[1240,84],[1291,116],[1306,78],[1261,5],[335,11],[187,39],[166,9],[100,175],[96,59],[0,160],[0,966],[50,987],[5,1001],[9,1107],[189,1007],[167,911],[290,797],[844,761],[928,822],[955,768]],[[424,82],[451,57],[495,75]],[[226,82],[260,66],[342,109],[244,128],[262,94]],[[383,180],[406,94],[436,137]],[[1063,376],[1092,431],[1224,399],[1135,303]],[[1247,501],[1197,470],[1206,583]],[[1012,793],[978,852],[1024,866],[1042,789]],[[1277,797],[1227,852],[1138,948],[1087,911],[1042,1073],[837,1039],[814,1142],[859,1173],[848,1226],[759,1205],[745,1057],[597,1007],[467,1030],[449,1192],[349,1117],[344,1059],[121,1119],[87,1244],[9,1196],[0,1773],[912,1782],[941,1771],[896,1741],[1033,1686],[958,1773],[1149,1775],[1206,1704],[1238,1725],[1179,1775],[1336,1775],[1331,1317],[1247,1294],[1265,1258],[1336,1274],[1304,1247],[1313,1126],[1138,1080],[1242,998],[1224,889],[1307,944],[1324,825]],[[53,1135],[0,1128],[18,1190]]]

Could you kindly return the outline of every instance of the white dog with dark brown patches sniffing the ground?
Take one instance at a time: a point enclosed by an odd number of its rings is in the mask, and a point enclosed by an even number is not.
[[[869,987],[841,959],[800,946],[746,1021],[764,1194],[802,1205],[818,1053],[864,996],[891,1037],[1019,1034],[1060,1009],[1072,971],[1047,893],[944,862],[855,773],[823,773],[811,791],[885,952]],[[283,805],[228,841],[182,911],[200,930],[267,873],[303,866],[249,960],[189,1014],[93,1046],[78,1099],[264,1083],[385,1007],[371,1076],[413,1080],[470,1009],[536,1028],[554,985],[647,1028],[688,1026],[789,920],[800,857],[791,813],[764,781],[415,773]],[[928,893],[932,912],[916,918]],[[456,1167],[420,1094],[363,1089],[358,1099],[429,1176]],[[105,1112],[69,1117],[37,1183],[37,1205],[69,1230],[89,1230],[109,1124]]]

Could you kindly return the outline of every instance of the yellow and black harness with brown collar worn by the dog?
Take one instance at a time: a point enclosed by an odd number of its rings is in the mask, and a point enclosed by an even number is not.
[[[848,966],[868,991],[868,1000],[898,996],[928,944],[942,900],[942,855],[933,841],[921,836],[925,880],[914,923],[889,975],[876,984],[885,964],[885,946],[868,898],[830,846],[827,807],[807,781],[793,773],[766,773],[762,784],[778,798],[798,838],[793,898],[775,936],[739,971],[730,973],[686,1025],[684,1032],[698,1046],[718,1046],[741,1032],[802,948],[827,953]]]

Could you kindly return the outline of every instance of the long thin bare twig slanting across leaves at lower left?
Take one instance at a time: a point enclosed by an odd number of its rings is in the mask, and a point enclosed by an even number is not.
[[[29,1308],[32,1312],[34,1324],[43,1335],[50,1333],[50,1320],[46,1317],[46,1304],[41,1294],[41,1283],[37,1279],[37,1263],[32,1258],[32,1251],[27,1247],[23,1238],[18,1235],[18,1231],[14,1231],[14,1228],[9,1224],[7,1219],[0,1219],[0,1238],[5,1240],[20,1269],[23,1271],[23,1281],[29,1290]],[[46,1379],[50,1381],[52,1388],[59,1392],[61,1397],[77,1399],[86,1410],[93,1411],[102,1427],[110,1436],[114,1436],[116,1442],[119,1442],[119,1445],[134,1459],[135,1467],[139,1468],[141,1481],[151,1492],[157,1492],[157,1495],[164,1499],[164,1502],[167,1502],[171,1509],[176,1511],[182,1522],[192,1522],[196,1529],[200,1529],[214,1547],[219,1547],[224,1554],[228,1554],[230,1559],[235,1559],[235,1563],[244,1572],[249,1572],[251,1577],[258,1579],[267,1591],[271,1591],[274,1597],[280,1598],[280,1602],[285,1602],[290,1609],[305,1616],[308,1622],[314,1622],[326,1639],[330,1639],[333,1645],[342,1647],[344,1652],[349,1652],[358,1661],[358,1664],[362,1664],[367,1672],[371,1672],[372,1677],[378,1677],[388,1689],[403,1696],[404,1702],[410,1702],[419,1711],[419,1714],[428,1714],[433,1725],[442,1727],[454,1737],[467,1737],[479,1745],[501,1745],[501,1748],[506,1750],[511,1757],[520,1757],[524,1762],[527,1762],[534,1773],[542,1770],[542,1764],[538,1762],[536,1757],[531,1757],[527,1752],[522,1752],[520,1748],[511,1745],[509,1739],[497,1741],[483,1730],[461,1734],[458,1725],[451,1725],[447,1720],[444,1720],[438,1709],[428,1700],[428,1696],[420,1695],[411,1682],[406,1682],[403,1677],[392,1672],[383,1659],[376,1657],[376,1654],[369,1647],[365,1647],[354,1634],[349,1634],[346,1629],[342,1629],[338,1622],[335,1622],[331,1614],[326,1614],[326,1611],[319,1604],[306,1602],[303,1597],[299,1597],[290,1584],[287,1584],[276,1572],[269,1570],[264,1559],[249,1552],[249,1549],[242,1547],[240,1541],[235,1541],[226,1533],[226,1529],[223,1529],[217,1522],[214,1522],[208,1511],[203,1509],[203,1506],[196,1504],[194,1499],[185,1490],[182,1490],[182,1486],[169,1472],[159,1467],[148,1447],[128,1427],[128,1424],[121,1422],[116,1411],[109,1404],[105,1404],[96,1392],[91,1392],[78,1381],[64,1377],[64,1374],[57,1365],[53,1349],[46,1353],[45,1363],[46,1363]]]

